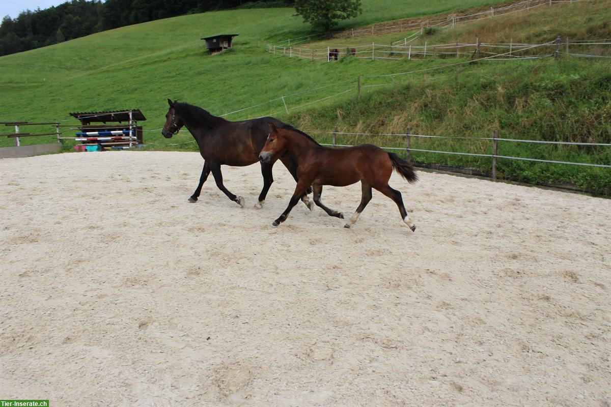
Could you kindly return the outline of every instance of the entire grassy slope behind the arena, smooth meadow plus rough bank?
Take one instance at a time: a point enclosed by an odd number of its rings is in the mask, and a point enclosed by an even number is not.
[[[424,4],[409,0],[398,4],[368,0],[364,1],[363,15],[343,27],[499,3],[439,0]],[[437,32],[432,40],[470,38],[476,32],[491,35],[497,31],[500,34],[496,38],[504,38],[511,35],[513,26],[516,27],[514,38],[524,38],[522,41],[543,38],[541,33],[560,34],[566,26],[573,27],[574,33],[589,32],[599,37],[607,29],[601,10],[609,4],[609,0],[602,0],[556,5],[550,9],[542,7],[529,12],[525,23],[519,23],[520,13],[516,13],[507,17],[507,21],[488,19],[461,26],[455,32]],[[579,13],[575,12],[576,7],[580,7]],[[591,15],[584,17],[587,7]],[[0,120],[62,120],[62,124],[77,124],[68,118],[68,112],[137,107],[148,118],[141,123],[147,131],[147,148],[194,149],[194,143],[176,145],[192,140],[188,132],[166,140],[157,130],[163,125],[166,98],[172,98],[197,104],[216,115],[262,104],[227,118],[243,120],[274,114],[306,131],[329,131],[337,126],[342,131],[404,132],[409,127],[419,134],[489,137],[496,128],[499,137],[507,138],[611,142],[609,60],[491,62],[393,79],[364,77],[363,85],[382,86],[363,88],[357,100],[359,75],[442,67],[461,60],[395,62],[347,58],[324,63],[269,54],[263,49],[269,41],[309,34],[309,26],[293,13],[293,9],[254,9],[187,15],[1,57],[0,70],[4,74],[0,77]],[[535,29],[533,21],[544,21],[544,24]],[[223,32],[240,34],[235,38],[235,48],[208,56],[199,38]],[[390,39],[381,36],[380,41]],[[337,85],[301,93],[328,84]],[[299,107],[344,91],[349,92]],[[285,100],[290,114],[284,112],[279,96],[288,96]],[[276,100],[266,103],[272,99]],[[7,129],[6,132],[12,130]],[[28,128],[27,131],[46,132],[47,129]],[[68,135],[73,133],[68,128],[64,131]],[[22,142],[49,140],[31,137]],[[388,140],[348,141],[373,141],[382,145]],[[423,149],[435,146],[448,151],[489,148],[481,143],[449,141],[445,145],[415,142],[422,144],[412,146]],[[0,146],[13,143],[12,139],[0,139]],[[609,151],[609,148],[587,150],[506,143],[500,147],[499,154],[611,164]],[[489,168],[489,159],[428,153],[412,157],[422,162]],[[608,168],[593,170],[502,160],[499,171],[504,178],[522,181],[571,181],[599,192],[611,187]]]

